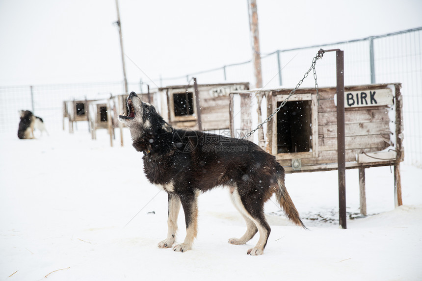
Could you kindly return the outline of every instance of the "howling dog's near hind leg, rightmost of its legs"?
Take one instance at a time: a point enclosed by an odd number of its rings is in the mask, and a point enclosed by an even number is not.
[[[265,248],[266,242],[268,241],[269,233],[271,231],[268,223],[265,220],[264,203],[260,202],[259,198],[254,198],[253,196],[251,197],[250,194],[239,195],[237,189],[235,189],[235,191],[233,192],[232,200],[237,206],[238,210],[240,210],[242,215],[246,216],[250,221],[252,221],[260,233],[260,238],[258,240],[258,243],[255,245],[254,248],[249,249],[247,254],[248,255],[264,254],[264,248]],[[248,234],[248,230],[246,230],[246,233],[243,236],[247,236],[247,234]],[[245,237],[245,238],[248,238],[248,237]]]

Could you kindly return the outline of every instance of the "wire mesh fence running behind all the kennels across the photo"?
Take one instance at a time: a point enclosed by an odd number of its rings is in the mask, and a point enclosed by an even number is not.
[[[278,50],[262,55],[263,85],[265,89],[280,86],[293,88],[309,69],[313,57],[322,49],[344,51],[344,83],[402,83],[405,162],[422,165],[422,27],[372,36],[368,38]],[[255,81],[251,61],[226,65],[218,69],[192,73],[180,77],[159,78],[151,85],[187,84],[191,77],[198,83]],[[319,87],[336,85],[336,58],[326,53],[317,63]],[[144,81],[145,82],[145,81]],[[312,77],[302,87],[314,87]],[[139,84],[130,89],[141,90]],[[155,87],[155,86],[154,86]],[[145,87],[144,87],[145,91]],[[18,110],[33,110],[46,119],[49,128],[61,128],[62,101],[73,98],[104,98],[124,92],[123,82],[33,87],[0,87],[0,132],[17,130]],[[32,99],[31,99],[32,97]],[[33,103],[31,102],[33,101]]]

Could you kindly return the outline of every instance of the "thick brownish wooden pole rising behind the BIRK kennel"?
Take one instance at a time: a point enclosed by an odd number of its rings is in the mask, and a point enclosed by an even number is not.
[[[251,43],[252,43],[252,62],[254,64],[254,74],[256,80],[256,88],[262,88],[263,77],[261,73],[261,51],[260,51],[260,34],[258,30],[258,12],[257,1],[248,0],[249,11],[249,26],[251,30]]]

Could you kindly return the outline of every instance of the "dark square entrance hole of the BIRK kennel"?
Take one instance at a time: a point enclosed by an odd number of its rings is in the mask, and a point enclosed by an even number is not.
[[[311,120],[311,101],[286,102],[277,113],[277,153],[312,151]]]

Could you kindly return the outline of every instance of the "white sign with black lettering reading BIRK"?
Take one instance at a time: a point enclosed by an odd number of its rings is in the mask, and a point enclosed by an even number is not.
[[[365,92],[344,92],[344,107],[393,105],[393,99],[393,92],[389,88],[375,89]]]

